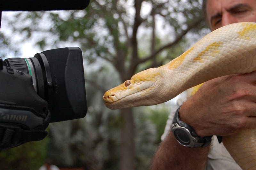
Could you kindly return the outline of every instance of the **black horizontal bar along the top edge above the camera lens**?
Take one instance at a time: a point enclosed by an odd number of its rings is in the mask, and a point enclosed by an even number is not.
[[[0,11],[55,11],[83,10],[90,0],[6,0],[0,3]]]

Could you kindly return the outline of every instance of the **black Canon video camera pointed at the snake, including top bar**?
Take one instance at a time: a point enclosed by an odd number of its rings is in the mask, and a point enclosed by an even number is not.
[[[1,4],[0,14],[81,10],[88,4],[89,0],[9,0]],[[0,150],[42,140],[50,122],[83,118],[86,110],[79,47],[46,50],[32,58],[0,58]]]

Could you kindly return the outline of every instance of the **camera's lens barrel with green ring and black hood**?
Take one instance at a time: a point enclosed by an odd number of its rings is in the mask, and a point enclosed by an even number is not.
[[[3,65],[32,76],[37,95],[48,102],[51,122],[86,115],[84,66],[80,48],[46,50],[33,58],[7,58]]]

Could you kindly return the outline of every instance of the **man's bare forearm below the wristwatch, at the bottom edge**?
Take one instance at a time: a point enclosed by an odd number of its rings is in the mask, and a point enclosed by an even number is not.
[[[152,170],[204,169],[209,146],[206,148],[186,148],[180,145],[172,132],[160,144],[152,161]]]

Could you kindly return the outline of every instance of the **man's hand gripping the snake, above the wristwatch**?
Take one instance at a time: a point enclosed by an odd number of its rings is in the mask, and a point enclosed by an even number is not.
[[[255,128],[255,83],[256,71],[207,81],[180,107],[180,119],[202,137]]]

